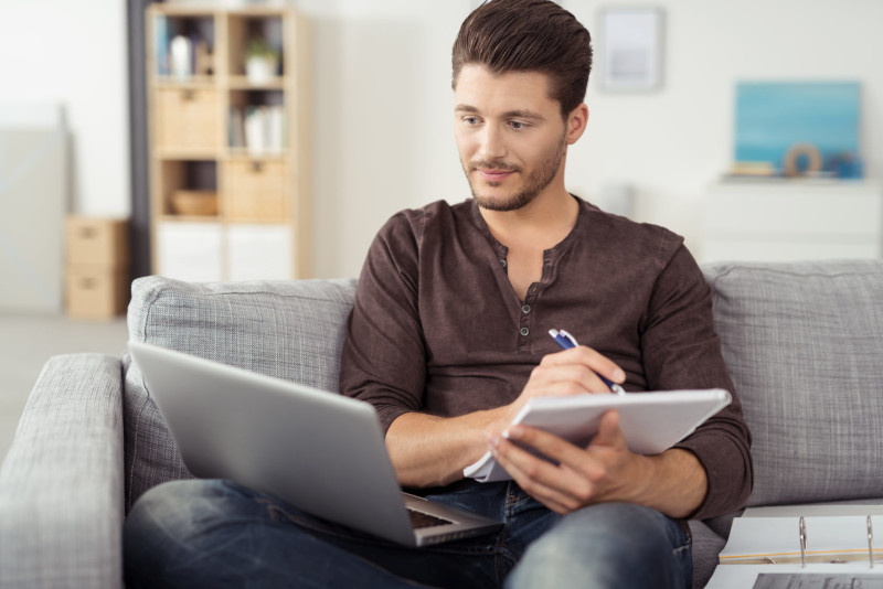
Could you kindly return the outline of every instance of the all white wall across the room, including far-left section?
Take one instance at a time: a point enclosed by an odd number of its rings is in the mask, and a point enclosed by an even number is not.
[[[315,266],[320,277],[355,276],[390,215],[469,195],[450,128],[450,46],[476,1],[292,3],[315,33]],[[602,7],[635,4],[561,3],[596,42]],[[593,75],[588,131],[568,156],[573,192],[592,200],[609,182],[631,183],[636,217],[696,248],[704,186],[730,164],[734,83],[751,78],[861,81],[865,169],[883,176],[883,2],[650,4],[666,11],[664,86],[607,94]],[[0,103],[64,105],[85,214],[130,208],[125,31],[123,0],[0,0]]]

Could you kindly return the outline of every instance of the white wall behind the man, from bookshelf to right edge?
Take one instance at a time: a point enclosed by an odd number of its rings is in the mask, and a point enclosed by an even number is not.
[[[635,4],[561,3],[588,26],[596,51],[600,8]],[[475,4],[295,0],[315,22],[320,276],[358,275],[374,233],[396,211],[469,195],[451,136],[449,82],[450,46]],[[758,78],[861,81],[866,172],[883,175],[883,2],[650,4],[666,12],[664,85],[610,94],[593,74],[588,130],[568,154],[571,191],[592,200],[608,183],[630,183],[635,216],[681,233],[698,250],[704,188],[731,163],[734,84]]]

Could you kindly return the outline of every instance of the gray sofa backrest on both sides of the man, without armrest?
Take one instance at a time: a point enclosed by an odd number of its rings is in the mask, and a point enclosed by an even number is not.
[[[721,264],[724,360],[752,430],[749,505],[883,497],[883,260]],[[136,280],[130,336],[337,390],[355,280]],[[128,356],[126,508],[190,476]]]

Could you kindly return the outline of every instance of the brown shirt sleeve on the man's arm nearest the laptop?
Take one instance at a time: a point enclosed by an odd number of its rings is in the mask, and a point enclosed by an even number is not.
[[[417,212],[402,212],[377,233],[347,320],[340,392],[374,406],[384,432],[423,407],[426,345],[418,294]]]

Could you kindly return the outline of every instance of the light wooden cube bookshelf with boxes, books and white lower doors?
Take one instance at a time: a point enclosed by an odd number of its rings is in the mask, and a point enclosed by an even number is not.
[[[151,271],[310,277],[308,23],[288,8],[146,15]]]

